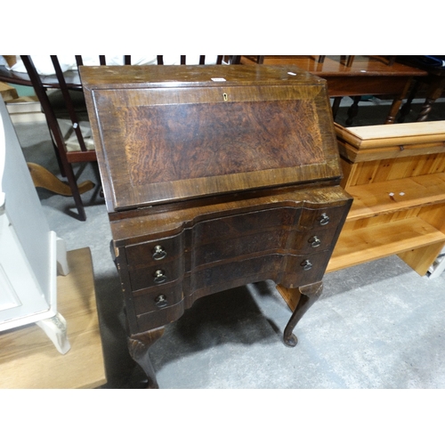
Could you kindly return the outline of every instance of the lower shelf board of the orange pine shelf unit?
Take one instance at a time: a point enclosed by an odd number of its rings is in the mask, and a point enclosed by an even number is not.
[[[327,272],[435,243],[445,243],[445,234],[420,218],[407,218],[356,230],[344,227]]]

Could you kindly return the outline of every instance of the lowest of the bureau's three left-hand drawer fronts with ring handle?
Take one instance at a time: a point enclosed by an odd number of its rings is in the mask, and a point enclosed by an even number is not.
[[[182,280],[159,286],[156,289],[133,293],[134,311],[136,315],[160,311],[173,306],[182,300]]]

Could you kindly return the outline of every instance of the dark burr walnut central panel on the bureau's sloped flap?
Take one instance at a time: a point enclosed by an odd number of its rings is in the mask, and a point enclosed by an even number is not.
[[[296,117],[305,116],[305,119]],[[324,161],[310,101],[174,104],[126,110],[134,186]]]

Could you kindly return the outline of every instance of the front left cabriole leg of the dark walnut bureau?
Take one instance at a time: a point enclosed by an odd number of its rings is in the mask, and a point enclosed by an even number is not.
[[[128,337],[130,355],[132,359],[141,366],[149,379],[147,389],[158,389],[159,387],[155,370],[151,364],[149,349],[163,334],[164,328],[158,328]]]

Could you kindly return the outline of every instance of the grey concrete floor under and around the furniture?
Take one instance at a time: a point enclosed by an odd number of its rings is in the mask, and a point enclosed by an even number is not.
[[[346,109],[340,109],[339,122]],[[371,98],[354,123],[384,119],[386,109],[389,102]],[[442,104],[435,113],[445,119]],[[20,124],[16,130],[27,160],[57,173],[45,125]],[[81,180],[90,178],[99,181],[91,165],[80,173]],[[126,350],[108,216],[98,189],[84,195],[86,222],[73,216],[72,198],[38,193],[51,229],[68,249],[91,249],[105,387],[141,387],[143,373]],[[397,256],[330,273],[320,300],[295,328],[295,348],[282,343],[291,313],[272,282],[201,298],[151,348],[158,384],[165,389],[445,388],[444,285],[445,273],[420,277]]]

